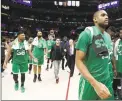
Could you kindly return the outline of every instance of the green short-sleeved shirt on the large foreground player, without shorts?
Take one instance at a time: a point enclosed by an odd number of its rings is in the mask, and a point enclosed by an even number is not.
[[[94,41],[95,48],[105,47],[107,50],[111,46],[111,38],[108,33],[102,32],[96,27],[92,27],[93,35],[102,36],[102,39],[96,39]],[[76,49],[86,53],[86,57],[83,60],[84,64],[88,68],[91,75],[98,81],[103,81],[110,78],[109,72],[109,54],[106,56],[97,56],[95,49],[92,46],[93,37],[90,30],[84,30],[77,41]],[[100,51],[100,50],[99,50]],[[82,67],[81,67],[82,68]]]

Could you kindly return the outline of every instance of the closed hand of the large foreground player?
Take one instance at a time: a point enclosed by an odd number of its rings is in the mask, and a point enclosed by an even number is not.
[[[111,96],[108,88],[102,84],[101,82],[96,82],[96,84],[93,86],[97,95],[101,98],[101,99],[107,99]]]

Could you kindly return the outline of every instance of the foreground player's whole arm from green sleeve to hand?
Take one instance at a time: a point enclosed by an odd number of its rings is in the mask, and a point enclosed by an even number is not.
[[[83,63],[83,60],[88,51],[89,43],[90,43],[90,36],[86,32],[81,33],[76,45],[76,58],[75,58],[76,66],[80,71],[80,73],[82,74],[82,76],[93,86],[98,96],[101,99],[105,99],[111,95],[108,88],[104,84],[98,82],[90,74],[88,68]]]

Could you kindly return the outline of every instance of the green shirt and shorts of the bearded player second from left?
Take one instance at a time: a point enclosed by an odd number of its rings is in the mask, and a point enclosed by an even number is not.
[[[36,57],[38,59],[38,62],[34,62],[32,60],[34,65],[41,66],[44,63],[44,49],[45,48],[46,48],[46,41],[43,38],[38,40],[37,45],[34,45],[32,53],[33,53],[34,57]]]

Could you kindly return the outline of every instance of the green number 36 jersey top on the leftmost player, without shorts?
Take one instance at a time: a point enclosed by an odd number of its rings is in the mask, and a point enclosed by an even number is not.
[[[16,64],[28,63],[28,52],[25,50],[24,42],[19,43],[19,49],[12,49],[12,62]]]

